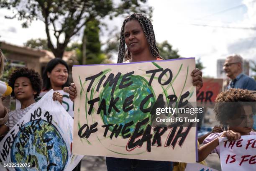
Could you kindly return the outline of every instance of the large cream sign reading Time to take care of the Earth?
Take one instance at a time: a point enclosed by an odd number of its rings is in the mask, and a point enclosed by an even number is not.
[[[195,162],[195,127],[150,125],[155,105],[196,101],[193,69],[194,58],[73,66],[74,153]]]

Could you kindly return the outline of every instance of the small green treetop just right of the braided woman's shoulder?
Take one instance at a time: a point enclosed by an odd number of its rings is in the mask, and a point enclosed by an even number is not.
[[[161,57],[164,59],[176,59],[181,56],[178,54],[178,50],[173,50],[172,45],[168,41],[163,41],[162,43],[156,43],[159,49]]]

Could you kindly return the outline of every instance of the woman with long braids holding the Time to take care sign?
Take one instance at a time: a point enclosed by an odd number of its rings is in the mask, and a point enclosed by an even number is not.
[[[123,21],[120,34],[118,63],[123,62],[125,44],[128,47],[128,62],[163,60],[156,46],[154,29],[151,21],[143,14],[132,14]],[[199,69],[192,71],[193,84],[197,90],[202,87],[202,72]],[[69,87],[69,98],[77,97],[74,83]],[[125,158],[106,157],[108,171],[171,171],[172,162],[146,161]]]

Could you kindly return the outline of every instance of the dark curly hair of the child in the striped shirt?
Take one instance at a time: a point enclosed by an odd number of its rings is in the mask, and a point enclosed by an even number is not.
[[[15,69],[8,78],[8,84],[10,85],[10,87],[14,89],[15,80],[19,77],[27,77],[30,80],[33,90],[37,92],[34,96],[34,99],[36,99],[36,97],[39,96],[42,89],[42,80],[38,72],[28,68]],[[11,96],[15,97],[14,91],[12,92]]]

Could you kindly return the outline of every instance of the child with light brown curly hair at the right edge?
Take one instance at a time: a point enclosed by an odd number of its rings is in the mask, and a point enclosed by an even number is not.
[[[245,89],[228,89],[218,94],[214,107],[216,120],[229,129],[221,133],[212,133],[198,149],[199,161],[204,160],[210,153],[220,156],[219,138],[238,140],[241,135],[256,135],[252,131],[253,115],[256,98]]]

